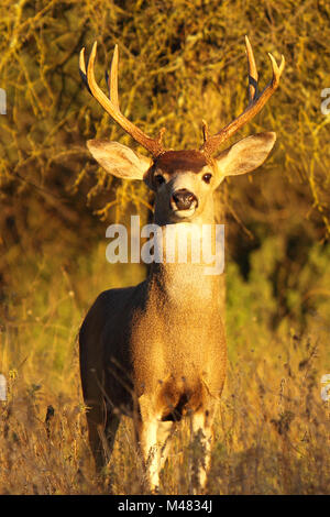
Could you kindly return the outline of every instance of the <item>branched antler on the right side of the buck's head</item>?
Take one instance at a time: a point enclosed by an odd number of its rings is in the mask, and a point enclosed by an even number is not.
[[[262,94],[260,94],[257,89],[257,70],[253,51],[248,36],[245,36],[245,45],[249,66],[249,106],[243,111],[243,113],[227,124],[221,131],[219,131],[219,133],[212,136],[209,136],[207,123],[202,121],[204,145],[201,146],[200,151],[207,156],[211,156],[219,148],[222,142],[229,139],[235,131],[238,131],[240,128],[242,128],[242,125],[255,117],[256,113],[263,109],[270,97],[272,97],[278,87],[279,77],[285,65],[284,56],[282,56],[280,65],[278,67],[272,54],[268,54],[273,68],[273,78],[266,88],[262,91]]]

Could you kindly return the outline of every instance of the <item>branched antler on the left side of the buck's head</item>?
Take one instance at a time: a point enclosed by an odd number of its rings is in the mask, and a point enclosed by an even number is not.
[[[107,77],[107,82],[109,87],[109,98],[103,94],[103,91],[98,86],[95,74],[94,74],[94,64],[97,53],[97,42],[94,43],[91,53],[87,64],[87,73],[85,65],[85,48],[81,48],[79,56],[79,70],[82,77],[85,85],[87,86],[88,91],[95,97],[95,99],[101,105],[101,107],[110,114],[110,117],[121,125],[121,128],[129,133],[136,142],[139,142],[143,147],[145,147],[154,157],[160,156],[165,152],[165,148],[162,144],[163,134],[165,128],[160,131],[157,139],[152,139],[147,136],[140,128],[134,125],[127,119],[120,111],[119,100],[118,100],[118,45],[114,47],[110,78]]]

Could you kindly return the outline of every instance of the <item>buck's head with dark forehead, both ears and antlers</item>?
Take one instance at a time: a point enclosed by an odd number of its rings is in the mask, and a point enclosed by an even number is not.
[[[226,176],[245,174],[258,167],[271,152],[276,134],[258,133],[248,136],[216,157],[220,145],[235,131],[249,122],[265,106],[279,84],[284,69],[284,56],[279,67],[270,55],[273,77],[265,89],[257,88],[257,70],[253,51],[245,36],[249,66],[249,105],[232,122],[215,135],[210,135],[207,123],[202,121],[204,144],[199,150],[173,151],[163,146],[163,128],[157,138],[152,139],[130,122],[120,111],[118,99],[118,46],[114,47],[110,77],[108,80],[109,97],[99,88],[94,74],[97,43],[94,44],[85,65],[85,48],[80,52],[79,68],[89,92],[102,108],[138,143],[146,148],[150,158],[135,153],[118,142],[89,140],[87,145],[97,162],[113,176],[125,179],[141,179],[155,191],[155,222],[198,222],[206,221],[208,212],[212,213],[212,193]]]

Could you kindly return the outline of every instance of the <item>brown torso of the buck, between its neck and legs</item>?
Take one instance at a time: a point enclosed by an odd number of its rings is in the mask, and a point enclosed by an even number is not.
[[[197,268],[193,265],[188,275],[177,275],[178,282],[174,284],[173,274],[165,265],[162,272],[152,271],[136,287],[102,293],[89,310],[80,330],[81,371],[89,360],[91,384],[95,384],[94,366],[97,377],[105,378],[105,385],[112,383],[107,399],[114,407],[132,411],[134,387],[138,398],[145,393],[153,394],[154,413],[161,419],[173,419],[179,398],[188,397],[188,392],[204,383],[215,396],[220,396],[226,341],[218,289],[216,285],[206,289],[205,276]],[[188,299],[187,290],[191,292]],[[177,292],[182,293],[180,297]],[[91,341],[92,350],[86,350]],[[216,371],[215,358],[220,360]],[[118,371],[122,385],[112,371]]]

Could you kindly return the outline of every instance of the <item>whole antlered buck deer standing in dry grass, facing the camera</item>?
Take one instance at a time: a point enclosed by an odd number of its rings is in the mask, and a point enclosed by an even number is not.
[[[228,176],[255,170],[274,146],[276,134],[263,132],[219,151],[262,110],[277,89],[284,69],[284,56],[278,66],[268,54],[272,79],[258,91],[248,36],[245,50],[246,109],[212,135],[202,120],[202,145],[175,151],[164,147],[164,128],[151,138],[121,112],[118,46],[107,77],[109,96],[95,78],[97,42],[87,67],[81,48],[79,70],[88,91],[150,156],[107,140],[89,140],[89,152],[109,174],[143,180],[154,193],[154,223],[162,229],[172,226],[177,239],[185,226],[215,226],[215,190]],[[79,359],[89,443],[98,470],[110,460],[121,416],[130,416],[147,484],[157,493],[173,428],[189,417],[193,437],[198,436],[202,443],[198,483],[205,490],[215,415],[227,371],[220,295],[219,275],[205,275],[202,263],[164,261],[152,263],[146,279],[139,285],[105,290],[97,297],[80,327]]]

